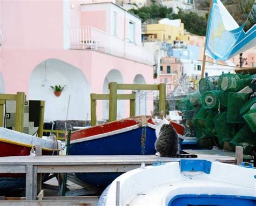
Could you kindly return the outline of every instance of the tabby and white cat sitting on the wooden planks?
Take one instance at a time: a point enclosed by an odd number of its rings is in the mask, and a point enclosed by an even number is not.
[[[156,125],[157,141],[154,144],[157,156],[194,158],[197,155],[178,154],[178,134],[171,125],[170,121],[165,119],[164,112],[154,113],[151,111],[151,118]]]

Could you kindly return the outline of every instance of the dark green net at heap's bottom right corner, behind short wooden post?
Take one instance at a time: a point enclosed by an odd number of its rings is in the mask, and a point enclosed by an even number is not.
[[[250,154],[252,148],[256,146],[255,136],[256,133],[253,133],[248,125],[245,125],[230,141],[230,145],[233,148],[235,148],[235,146],[241,146],[244,148],[244,154]]]

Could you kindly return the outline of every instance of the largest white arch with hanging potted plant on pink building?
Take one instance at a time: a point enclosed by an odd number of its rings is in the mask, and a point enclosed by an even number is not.
[[[55,85],[66,85],[60,97],[50,88]],[[90,93],[83,72],[58,59],[38,64],[30,76],[29,99],[45,100],[45,120],[65,120],[67,114],[68,120],[90,119]]]

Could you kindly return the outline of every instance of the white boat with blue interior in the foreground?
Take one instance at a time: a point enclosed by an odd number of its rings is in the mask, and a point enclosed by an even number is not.
[[[98,205],[255,206],[256,169],[186,159],[142,166],[116,178]]]

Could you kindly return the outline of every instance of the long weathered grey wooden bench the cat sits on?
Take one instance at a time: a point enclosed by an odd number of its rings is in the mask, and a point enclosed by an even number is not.
[[[198,155],[198,159],[235,163],[234,157]],[[36,200],[38,173],[102,173],[126,172],[139,168],[144,162],[153,164],[179,161],[177,158],[156,155],[111,155],[111,156],[11,156],[0,158],[0,173],[26,174],[26,200]]]

